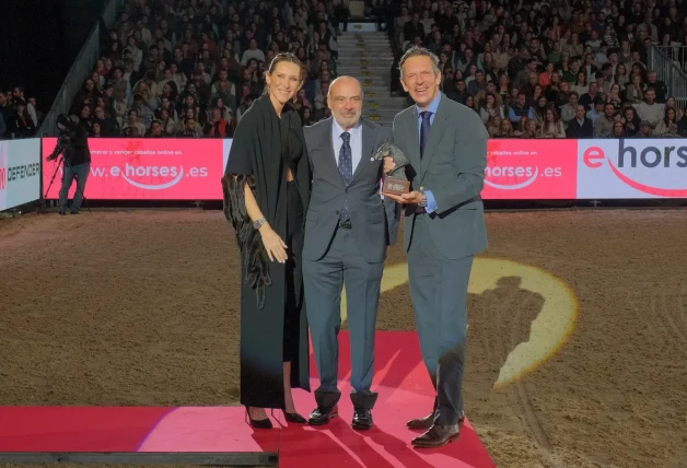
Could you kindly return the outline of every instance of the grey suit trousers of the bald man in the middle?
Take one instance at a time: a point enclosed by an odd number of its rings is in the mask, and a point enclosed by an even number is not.
[[[337,227],[325,256],[303,260],[307,321],[319,387],[317,405],[330,407],[341,394],[337,387],[341,328],[341,289],[347,291],[351,348],[351,400],[356,408],[372,409],[376,393],[370,391],[374,374],[374,331],[384,262],[370,264],[361,255],[350,229]]]

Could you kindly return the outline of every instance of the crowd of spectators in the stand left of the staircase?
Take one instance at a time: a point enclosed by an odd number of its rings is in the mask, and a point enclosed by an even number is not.
[[[305,78],[294,106],[313,124],[330,115],[347,16],[341,0],[129,0],[70,114],[92,137],[231,138],[290,51]]]

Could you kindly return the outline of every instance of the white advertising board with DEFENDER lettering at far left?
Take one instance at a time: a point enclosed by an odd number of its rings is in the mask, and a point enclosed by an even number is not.
[[[0,211],[40,199],[40,139],[0,141]]]

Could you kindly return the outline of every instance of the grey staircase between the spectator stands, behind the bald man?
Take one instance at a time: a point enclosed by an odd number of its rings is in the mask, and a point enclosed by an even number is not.
[[[357,78],[362,84],[362,116],[392,127],[394,117],[407,106],[405,97],[391,96],[394,55],[386,33],[347,32],[338,37],[337,74]]]

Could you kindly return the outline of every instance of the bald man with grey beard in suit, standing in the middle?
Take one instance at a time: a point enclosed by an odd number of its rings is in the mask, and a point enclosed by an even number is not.
[[[351,341],[351,400],[354,429],[372,428],[377,394],[374,331],[386,247],[396,242],[400,204],[380,195],[383,171],[372,161],[391,130],[360,117],[358,80],[340,77],[329,86],[333,117],[305,127],[313,191],[305,214],[303,283],[319,387],[308,422],[323,425],[338,413],[338,341],[341,288],[346,285]]]

